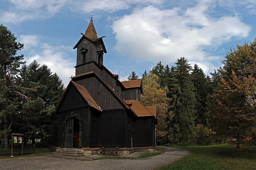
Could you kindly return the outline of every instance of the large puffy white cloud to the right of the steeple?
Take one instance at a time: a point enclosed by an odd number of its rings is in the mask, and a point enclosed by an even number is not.
[[[115,49],[137,61],[154,63],[172,63],[182,56],[209,70],[215,58],[206,51],[231,38],[244,38],[251,30],[238,16],[212,18],[208,13],[212,5],[202,1],[185,10],[136,8],[114,21]]]

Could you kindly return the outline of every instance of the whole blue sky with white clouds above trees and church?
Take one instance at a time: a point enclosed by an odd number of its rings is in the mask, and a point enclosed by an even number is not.
[[[0,1],[0,23],[24,43],[20,54],[27,64],[48,65],[65,86],[75,75],[73,47],[91,17],[98,37],[106,36],[104,65],[120,72],[120,81],[180,57],[207,75],[230,48],[256,37],[255,0]]]

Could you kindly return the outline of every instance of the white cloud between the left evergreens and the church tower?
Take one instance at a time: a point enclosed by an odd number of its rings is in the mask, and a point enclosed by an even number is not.
[[[68,85],[71,75],[75,76],[75,62],[68,57],[66,49],[72,47],[57,46],[53,47],[48,44],[42,45],[42,51],[38,54],[25,57],[27,64],[37,60],[40,65],[47,65],[53,73],[57,73],[65,86]]]

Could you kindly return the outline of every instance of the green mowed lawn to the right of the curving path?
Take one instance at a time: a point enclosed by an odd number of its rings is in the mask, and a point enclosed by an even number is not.
[[[164,169],[256,169],[256,146],[177,146],[190,152]]]

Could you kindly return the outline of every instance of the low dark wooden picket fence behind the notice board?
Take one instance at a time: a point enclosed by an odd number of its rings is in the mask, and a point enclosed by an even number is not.
[[[23,155],[36,153],[35,144],[23,144]],[[22,144],[13,144],[13,156],[22,155]],[[0,156],[12,156],[12,145],[0,142]]]

